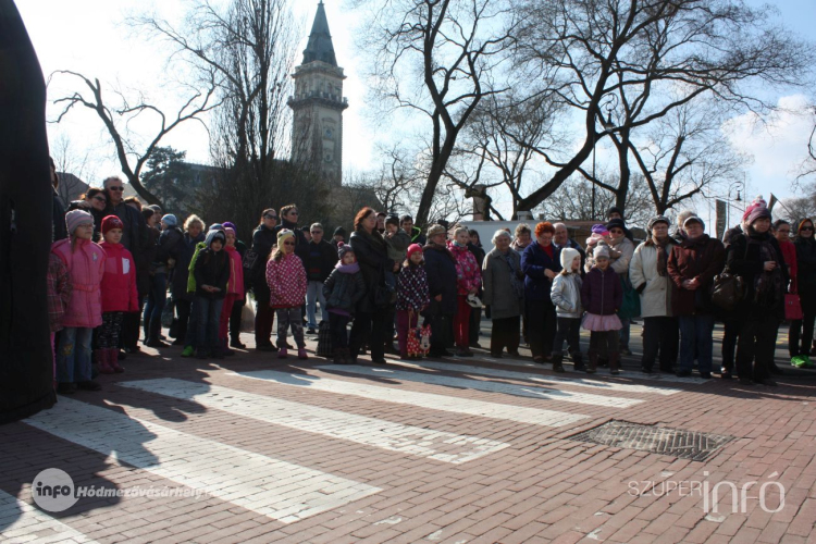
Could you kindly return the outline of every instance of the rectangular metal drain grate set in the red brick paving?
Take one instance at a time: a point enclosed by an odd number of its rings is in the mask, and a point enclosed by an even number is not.
[[[722,434],[642,425],[628,421],[609,421],[595,429],[570,436],[570,438],[604,446],[670,455],[693,461],[705,460],[709,455],[734,440],[733,436]]]

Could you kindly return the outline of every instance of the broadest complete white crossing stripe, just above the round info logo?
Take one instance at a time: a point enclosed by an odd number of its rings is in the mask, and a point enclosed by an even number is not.
[[[65,397],[24,422],[284,523],[382,491]]]

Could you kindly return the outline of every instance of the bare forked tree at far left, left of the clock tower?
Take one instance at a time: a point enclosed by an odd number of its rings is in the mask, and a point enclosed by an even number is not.
[[[113,140],[116,158],[122,166],[122,172],[127,177],[127,182],[149,203],[162,206],[161,198],[147,190],[141,184],[139,177],[141,170],[168,134],[187,121],[201,122],[203,113],[220,104],[214,96],[214,81],[211,78],[205,90],[190,90],[190,96],[184,100],[181,108],[174,114],[168,115],[159,107],[148,103],[147,99],[141,95],[133,101],[116,90],[113,91],[116,96],[116,106],[111,106],[102,97],[102,85],[99,83],[99,79],[90,81],[88,77],[69,70],[59,70],[51,74],[49,85],[51,79],[58,75],[78,78],[83,89],[53,101],[54,104],[64,104],[62,112],[54,122],[59,123],[62,121],[75,106],[92,110],[102,121],[108,135]],[[128,125],[138,118],[146,115],[156,118],[158,120],[158,127],[153,136],[147,138],[147,144],[139,146],[139,138],[129,131]]]

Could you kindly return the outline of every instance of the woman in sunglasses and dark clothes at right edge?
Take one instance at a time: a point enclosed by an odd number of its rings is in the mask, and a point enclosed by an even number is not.
[[[791,357],[811,356],[813,324],[816,318],[816,239],[813,221],[803,220],[796,228],[796,290],[802,304],[803,319],[791,322],[788,332]],[[801,338],[801,344],[800,344]]]

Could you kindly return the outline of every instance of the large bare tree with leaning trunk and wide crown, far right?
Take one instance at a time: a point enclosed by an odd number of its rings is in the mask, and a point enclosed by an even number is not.
[[[519,203],[522,209],[553,195],[590,157],[604,135],[597,125],[605,97],[615,95],[620,104],[608,135],[619,153],[617,203],[623,206],[632,131],[704,96],[771,109],[747,84],[801,86],[814,58],[812,46],[772,25],[769,8],[737,0],[517,0],[517,7],[523,17],[519,66],[551,82],[546,91],[580,112],[584,132],[576,152],[539,150],[557,171]],[[671,97],[672,89],[681,95]]]

